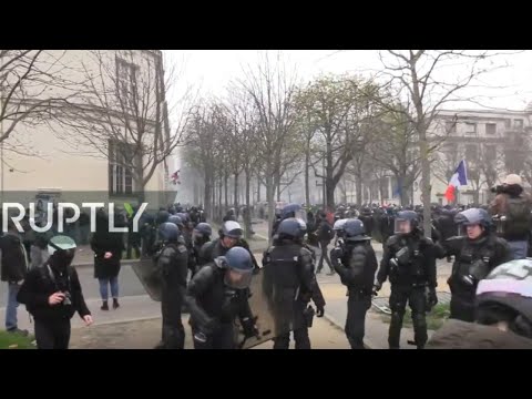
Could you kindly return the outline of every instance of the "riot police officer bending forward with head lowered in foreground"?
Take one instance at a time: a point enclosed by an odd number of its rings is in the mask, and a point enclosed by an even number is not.
[[[186,300],[195,349],[235,349],[235,320],[246,337],[256,335],[249,308],[253,263],[249,253],[233,247],[202,267],[188,283]]]

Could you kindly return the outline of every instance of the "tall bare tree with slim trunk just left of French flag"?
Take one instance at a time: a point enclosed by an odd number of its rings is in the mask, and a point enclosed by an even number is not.
[[[388,50],[386,55],[380,53],[383,65],[381,75],[386,75],[387,85],[398,89],[399,96],[409,100],[413,108],[413,112],[396,110],[406,115],[418,135],[423,228],[424,234],[430,236],[431,145],[428,131],[442,106],[451,101],[463,101],[464,99],[458,96],[460,91],[487,72],[482,61],[489,58],[490,53],[461,50]],[[460,65],[467,71],[454,74],[451,79],[442,79],[441,71],[450,65]]]

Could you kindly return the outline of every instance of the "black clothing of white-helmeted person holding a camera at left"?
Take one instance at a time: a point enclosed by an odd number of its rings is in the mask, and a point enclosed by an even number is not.
[[[49,297],[57,291],[70,293],[69,301],[50,305]],[[68,266],[60,272],[50,265],[50,260],[28,273],[17,300],[25,304],[35,320],[39,349],[68,349],[70,319],[76,311],[82,318],[91,314],[75,268]]]

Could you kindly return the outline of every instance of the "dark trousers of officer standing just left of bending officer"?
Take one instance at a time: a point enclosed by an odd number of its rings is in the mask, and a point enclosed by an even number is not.
[[[162,290],[161,314],[163,319],[162,347],[164,349],[185,348],[185,328],[181,320],[183,300],[178,288],[171,290],[166,287]]]

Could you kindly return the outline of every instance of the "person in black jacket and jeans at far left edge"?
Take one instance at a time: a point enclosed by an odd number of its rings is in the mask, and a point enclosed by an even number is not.
[[[6,306],[6,329],[10,332],[28,335],[20,330],[17,320],[17,294],[29,268],[28,253],[14,223],[9,219],[8,232],[0,238],[1,279],[8,283],[8,303]]]

